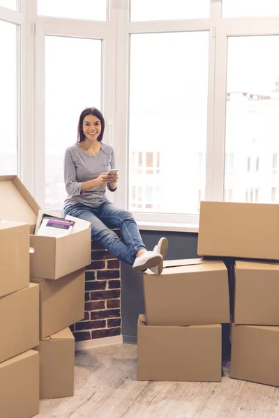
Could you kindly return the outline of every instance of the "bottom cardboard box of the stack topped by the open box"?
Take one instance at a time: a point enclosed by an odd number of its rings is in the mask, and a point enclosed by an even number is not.
[[[40,341],[40,399],[74,394],[75,338],[66,328]]]

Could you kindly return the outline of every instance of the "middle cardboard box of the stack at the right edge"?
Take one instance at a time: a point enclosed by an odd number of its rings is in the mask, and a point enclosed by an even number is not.
[[[234,323],[279,325],[279,263],[236,261]]]

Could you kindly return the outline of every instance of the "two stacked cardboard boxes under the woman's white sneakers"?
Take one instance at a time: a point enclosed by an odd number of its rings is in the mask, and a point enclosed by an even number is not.
[[[202,259],[144,273],[137,326],[138,380],[221,380],[222,323],[229,323],[227,268]]]

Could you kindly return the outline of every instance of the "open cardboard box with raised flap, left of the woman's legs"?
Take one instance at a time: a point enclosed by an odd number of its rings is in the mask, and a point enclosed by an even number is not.
[[[40,206],[17,176],[0,176],[0,218],[27,222],[33,233]],[[82,219],[79,219],[82,222]],[[64,237],[30,235],[30,275],[40,279],[59,279],[91,263],[91,228]]]

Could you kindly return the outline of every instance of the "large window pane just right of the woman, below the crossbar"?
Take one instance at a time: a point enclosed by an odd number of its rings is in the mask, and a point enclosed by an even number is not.
[[[158,190],[143,210],[195,214],[197,190],[204,196],[205,189],[206,159],[201,165],[199,156],[206,155],[209,34],[149,33],[130,41],[129,161],[142,151],[152,164],[136,172],[130,163],[130,187]]]

